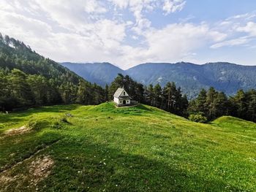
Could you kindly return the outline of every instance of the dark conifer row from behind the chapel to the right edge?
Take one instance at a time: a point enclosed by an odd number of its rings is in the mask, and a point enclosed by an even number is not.
[[[198,121],[210,121],[223,115],[231,115],[256,122],[256,90],[253,89],[240,90],[234,96],[227,96],[211,87],[207,91],[202,89],[195,99],[188,101],[174,82],[167,82],[163,88],[159,84],[143,86],[128,75],[118,74],[110,87],[107,85],[105,88],[107,100],[112,100],[113,93],[122,86],[132,99],[185,118],[197,115]]]

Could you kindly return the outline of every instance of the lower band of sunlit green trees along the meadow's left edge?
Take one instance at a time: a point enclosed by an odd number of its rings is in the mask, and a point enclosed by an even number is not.
[[[51,104],[100,104],[105,90],[96,84],[79,80],[78,84],[64,82],[42,75],[26,74],[19,69],[0,69],[0,110],[51,105]]]

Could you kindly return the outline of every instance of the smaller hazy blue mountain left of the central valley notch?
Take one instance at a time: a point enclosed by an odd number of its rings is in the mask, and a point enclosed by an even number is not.
[[[118,73],[126,74],[122,69],[109,63],[77,64],[66,62],[61,63],[61,65],[66,66],[89,82],[96,82],[102,86],[110,84]]]

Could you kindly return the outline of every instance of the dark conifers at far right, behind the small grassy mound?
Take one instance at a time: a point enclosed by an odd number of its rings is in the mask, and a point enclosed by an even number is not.
[[[197,98],[189,102],[188,112],[200,114],[207,120],[231,115],[256,122],[256,90],[239,90],[236,95],[227,97],[214,88],[202,89]]]

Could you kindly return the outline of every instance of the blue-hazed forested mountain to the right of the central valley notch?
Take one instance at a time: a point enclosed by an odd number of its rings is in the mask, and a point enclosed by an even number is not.
[[[256,87],[256,66],[240,66],[229,63],[209,63],[196,65],[177,64],[141,64],[127,70],[127,73],[146,85],[159,82],[165,85],[176,82],[189,96],[198,93],[201,88],[214,87],[228,95],[239,89],[249,90]]]

